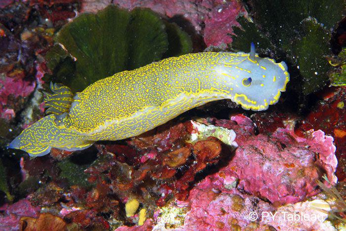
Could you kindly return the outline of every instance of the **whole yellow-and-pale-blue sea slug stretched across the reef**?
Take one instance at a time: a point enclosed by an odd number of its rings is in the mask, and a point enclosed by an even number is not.
[[[45,97],[51,113],[10,144],[30,156],[51,147],[81,150],[97,140],[118,140],[149,131],[179,114],[218,99],[244,109],[265,110],[289,81],[287,66],[250,53],[202,52],[171,57],[116,73],[73,95],[51,85]]]

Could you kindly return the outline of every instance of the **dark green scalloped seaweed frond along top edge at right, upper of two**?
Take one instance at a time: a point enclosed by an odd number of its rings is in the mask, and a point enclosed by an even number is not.
[[[344,0],[249,0],[248,3],[255,12],[254,21],[277,45],[289,44],[292,35],[299,34],[301,22],[308,17],[316,18],[331,29],[343,18],[345,8]]]

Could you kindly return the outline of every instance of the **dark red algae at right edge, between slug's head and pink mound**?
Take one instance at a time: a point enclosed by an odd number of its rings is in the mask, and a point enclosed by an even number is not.
[[[334,137],[336,156],[339,160],[336,176],[339,181],[346,179],[345,157],[346,153],[346,87],[329,88],[324,95],[320,95],[320,100],[316,106],[302,117],[290,112],[259,112],[252,116],[258,126],[259,133],[273,133],[278,128],[287,127],[294,130],[300,137],[308,137],[312,129],[322,130],[328,136]],[[310,134],[311,135],[311,134]]]

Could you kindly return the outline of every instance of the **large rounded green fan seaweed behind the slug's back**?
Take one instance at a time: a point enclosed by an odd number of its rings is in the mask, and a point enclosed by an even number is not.
[[[110,5],[66,24],[46,54],[52,74],[45,80],[84,90],[95,81],[163,57],[192,50],[189,36],[146,8],[132,11]]]

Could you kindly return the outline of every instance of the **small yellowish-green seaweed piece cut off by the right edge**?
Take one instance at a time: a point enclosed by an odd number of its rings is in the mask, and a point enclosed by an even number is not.
[[[346,86],[346,48],[340,52],[338,59],[330,60],[330,64],[338,68],[329,75],[331,85]]]

